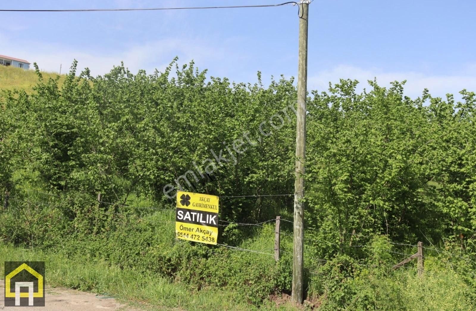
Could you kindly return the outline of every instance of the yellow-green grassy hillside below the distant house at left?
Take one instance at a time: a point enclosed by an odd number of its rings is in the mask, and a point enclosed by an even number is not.
[[[55,78],[58,74],[55,72],[42,71],[43,78]],[[61,75],[59,85],[63,84],[65,75]],[[38,83],[38,76],[35,70],[23,70],[11,66],[0,66],[0,89],[13,90],[24,89],[27,93],[33,90],[33,86]]]

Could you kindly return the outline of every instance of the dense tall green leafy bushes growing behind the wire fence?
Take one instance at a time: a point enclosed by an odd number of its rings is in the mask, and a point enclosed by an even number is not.
[[[1,241],[152,273],[195,291],[233,289],[256,305],[272,292],[289,292],[289,253],[276,263],[175,241],[167,211],[173,200],[162,191],[196,170],[194,163],[203,170],[210,150],[249,131],[252,143],[236,154],[236,165],[217,165],[181,186],[228,196],[220,201],[224,221],[290,219],[292,196],[253,195],[293,191],[295,117],[291,108],[282,114],[295,101],[292,78],[264,87],[258,73],[254,85],[230,83],[177,59],[163,73],[134,75],[121,64],[94,78],[88,68],[77,76],[75,61],[59,87],[35,67],[39,83],[31,95],[0,96],[0,197],[10,200],[0,212]],[[464,101],[455,102],[424,90],[411,99],[404,84],[369,81],[370,90],[357,94],[357,81],[341,80],[308,99],[305,281],[323,310],[411,309],[407,302],[422,299],[423,289],[439,295],[441,306],[457,295],[457,308],[472,306],[476,96],[463,90]],[[285,121],[279,130],[268,122],[275,114]],[[248,196],[234,197],[240,195]],[[223,244],[271,252],[272,226],[222,229]],[[453,265],[435,264],[422,284],[410,272],[388,272],[398,259],[388,241],[418,240],[446,241],[451,249],[427,257]],[[289,252],[291,240],[283,238],[282,247]],[[450,292],[453,286],[461,291]]]

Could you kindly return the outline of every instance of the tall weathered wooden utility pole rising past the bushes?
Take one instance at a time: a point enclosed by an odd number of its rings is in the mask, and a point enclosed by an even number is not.
[[[297,68],[296,182],[294,184],[294,247],[291,301],[303,301],[304,161],[306,159],[307,22],[309,0],[299,3],[299,62]]]

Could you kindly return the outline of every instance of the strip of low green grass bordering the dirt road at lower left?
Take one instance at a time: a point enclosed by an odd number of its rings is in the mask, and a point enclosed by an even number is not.
[[[163,307],[186,310],[249,310],[252,306],[233,292],[203,289],[191,292],[183,284],[156,275],[120,269],[103,261],[67,258],[0,244],[0,261],[45,261],[49,287],[64,286],[81,291],[107,293],[122,302],[141,302],[148,310]],[[3,275],[3,265],[0,274]]]

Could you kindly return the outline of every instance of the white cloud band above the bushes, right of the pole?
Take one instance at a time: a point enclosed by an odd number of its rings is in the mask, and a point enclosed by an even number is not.
[[[392,81],[407,80],[405,84],[405,95],[416,98],[421,96],[423,89],[428,88],[433,97],[445,97],[447,93],[455,95],[456,99],[460,99],[459,91],[466,88],[469,91],[476,91],[476,70],[466,67],[463,73],[454,75],[427,75],[419,72],[401,72],[401,71],[384,71],[379,68],[358,68],[348,65],[339,65],[330,70],[319,71],[316,74],[309,74],[308,89],[317,89],[318,91],[327,91],[329,81],[332,83],[339,82],[339,78],[357,79],[359,90],[364,87],[369,89],[367,80],[377,78],[380,86],[389,86]]]

